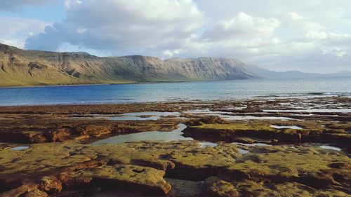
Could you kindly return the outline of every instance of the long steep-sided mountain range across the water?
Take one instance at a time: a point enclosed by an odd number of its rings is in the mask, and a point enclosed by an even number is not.
[[[334,76],[340,75],[351,76],[351,72],[334,74]],[[273,72],[228,58],[161,60],[142,55],[97,57],[84,52],[22,50],[0,43],[0,86],[218,81],[311,76],[324,75]]]

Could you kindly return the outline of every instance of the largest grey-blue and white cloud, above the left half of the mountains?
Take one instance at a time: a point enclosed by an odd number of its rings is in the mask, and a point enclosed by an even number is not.
[[[79,2],[69,1],[67,18],[44,34],[30,36],[26,48],[38,48],[39,44],[46,50],[56,50],[60,43],[69,42],[117,54],[161,53],[177,50],[172,46],[204,24],[203,14],[191,0]]]

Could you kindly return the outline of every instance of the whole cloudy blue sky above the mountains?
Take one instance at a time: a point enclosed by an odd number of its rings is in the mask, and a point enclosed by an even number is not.
[[[0,0],[0,43],[351,71],[350,0]]]

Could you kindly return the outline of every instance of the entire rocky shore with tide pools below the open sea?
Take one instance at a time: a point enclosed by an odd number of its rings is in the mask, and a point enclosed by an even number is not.
[[[350,196],[351,98],[0,107],[0,196]]]

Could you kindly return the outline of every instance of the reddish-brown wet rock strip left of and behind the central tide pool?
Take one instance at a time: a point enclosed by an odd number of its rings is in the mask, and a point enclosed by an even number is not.
[[[48,120],[1,121],[0,137],[2,142],[41,143],[62,142],[65,140],[91,140],[111,135],[140,133],[150,130],[174,130],[179,121],[153,121],[139,123],[131,121],[104,120],[62,120],[51,117]]]

